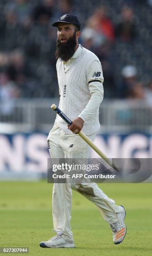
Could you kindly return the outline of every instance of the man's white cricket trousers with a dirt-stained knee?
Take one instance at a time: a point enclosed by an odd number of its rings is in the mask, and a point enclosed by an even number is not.
[[[94,141],[96,134],[88,136]],[[55,124],[47,137],[51,158],[89,158],[90,146],[77,134],[66,134]],[[69,147],[72,145],[72,147]],[[71,205],[72,189],[80,192],[84,197],[93,202],[99,208],[102,217],[108,223],[115,223],[119,220],[117,212],[122,207],[115,205],[115,201],[97,186],[96,183],[54,183],[52,193],[52,215],[54,230],[62,232],[64,236],[73,239],[71,231]]]

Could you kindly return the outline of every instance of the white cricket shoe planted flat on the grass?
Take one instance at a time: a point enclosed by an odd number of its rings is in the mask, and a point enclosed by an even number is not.
[[[40,247],[46,248],[60,248],[60,247],[66,247],[66,248],[74,248],[75,244],[73,243],[73,240],[70,240],[67,238],[67,241],[65,241],[64,236],[56,235],[50,238],[48,241],[42,241],[40,242]]]

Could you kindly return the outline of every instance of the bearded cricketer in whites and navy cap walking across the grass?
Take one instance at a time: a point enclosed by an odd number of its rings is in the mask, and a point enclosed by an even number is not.
[[[60,92],[59,108],[72,120],[72,125],[57,115],[47,138],[52,159],[88,159],[90,147],[77,134],[81,130],[94,141],[100,128],[99,106],[103,99],[103,75],[95,54],[78,44],[80,21],[72,14],[61,16],[52,26],[57,27],[57,78]],[[96,183],[54,183],[52,215],[56,236],[42,241],[41,247],[75,247],[71,231],[72,189],[97,205],[110,224],[115,244],[125,238],[125,209]]]

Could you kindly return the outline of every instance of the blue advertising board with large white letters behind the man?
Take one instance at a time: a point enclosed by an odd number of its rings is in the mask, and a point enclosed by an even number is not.
[[[110,158],[151,158],[152,134],[98,134],[95,144]],[[0,135],[0,172],[47,172],[46,133]],[[91,149],[91,158],[99,158]]]

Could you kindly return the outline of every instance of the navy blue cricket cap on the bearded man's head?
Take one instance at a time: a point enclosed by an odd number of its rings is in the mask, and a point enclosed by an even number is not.
[[[70,13],[62,15],[56,22],[52,24],[52,26],[57,27],[59,22],[75,24],[75,26],[77,26],[79,30],[81,27],[80,21],[77,16]]]

